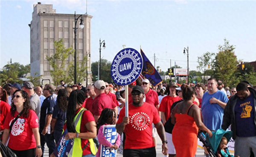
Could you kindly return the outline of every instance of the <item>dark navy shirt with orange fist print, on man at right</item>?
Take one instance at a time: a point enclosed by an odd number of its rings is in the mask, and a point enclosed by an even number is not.
[[[254,121],[253,94],[244,100],[237,99],[235,106],[236,135],[238,137],[256,136],[256,126]]]

